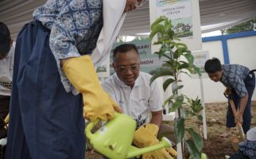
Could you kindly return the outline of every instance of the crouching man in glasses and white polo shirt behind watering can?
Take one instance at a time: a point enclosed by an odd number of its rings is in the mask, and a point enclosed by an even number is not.
[[[125,114],[136,120],[137,128],[147,123],[157,125],[161,134],[173,134],[173,127],[161,124],[163,97],[157,81],[140,72],[138,49],[133,44],[119,45],[113,52],[114,75],[103,81],[103,89],[119,104]],[[170,135],[172,141],[173,135]]]

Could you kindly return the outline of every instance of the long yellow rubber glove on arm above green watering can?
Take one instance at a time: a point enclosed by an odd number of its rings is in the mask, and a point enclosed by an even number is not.
[[[114,117],[118,104],[101,87],[90,56],[74,57],[63,65],[68,80],[83,95],[83,117],[103,121]]]

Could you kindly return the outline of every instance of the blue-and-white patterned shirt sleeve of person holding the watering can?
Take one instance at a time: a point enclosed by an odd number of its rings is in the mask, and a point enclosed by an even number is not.
[[[56,17],[50,33],[49,45],[55,56],[60,79],[66,91],[72,91],[74,88],[60,68],[60,59],[80,56],[76,48],[76,40],[86,35],[92,21],[84,5],[79,1],[67,3],[67,6],[64,6]]]

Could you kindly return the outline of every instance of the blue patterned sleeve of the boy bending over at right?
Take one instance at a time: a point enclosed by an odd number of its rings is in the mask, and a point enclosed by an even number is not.
[[[247,94],[246,85],[241,78],[236,76],[235,79],[231,80],[229,84],[235,90],[236,94],[239,95],[239,97],[242,98],[246,96]]]

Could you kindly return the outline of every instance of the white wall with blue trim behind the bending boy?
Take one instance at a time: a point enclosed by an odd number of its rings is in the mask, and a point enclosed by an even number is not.
[[[242,37],[227,40],[228,52],[231,64],[242,64],[250,69],[256,69],[256,36]],[[209,51],[209,57],[217,57],[224,63],[223,48],[221,41],[211,41],[203,43],[203,50]],[[188,76],[181,76],[184,84],[182,93],[189,97],[196,98],[200,95],[200,80],[191,79]],[[222,83],[215,83],[211,81],[208,76],[203,79],[204,85],[204,102],[205,103],[219,103],[227,102],[223,96]],[[256,100],[256,93],[254,92],[253,100]]]

